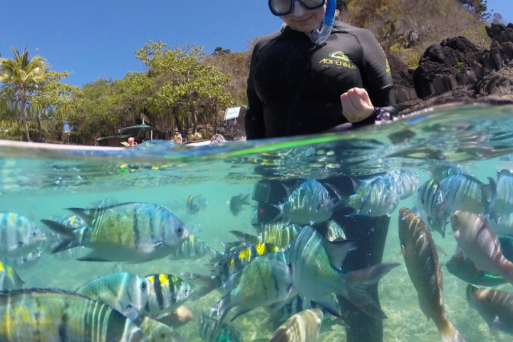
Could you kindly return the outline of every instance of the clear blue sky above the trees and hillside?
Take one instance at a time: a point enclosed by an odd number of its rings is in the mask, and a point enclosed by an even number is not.
[[[513,21],[511,1],[489,0],[488,9]],[[11,46],[28,45],[31,56],[38,48],[53,70],[73,71],[64,80],[73,86],[142,71],[134,51],[150,39],[244,51],[248,38],[281,25],[266,0],[6,0],[0,9],[2,57]]]

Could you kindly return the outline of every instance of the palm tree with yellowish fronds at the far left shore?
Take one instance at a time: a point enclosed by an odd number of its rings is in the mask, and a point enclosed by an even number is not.
[[[17,48],[11,48],[14,51],[14,59],[0,58],[0,81],[16,88],[17,98],[21,104],[20,117],[24,120],[27,141],[31,141],[25,115],[26,98],[39,83],[46,81],[45,71],[48,69],[48,63],[46,58],[39,55],[28,60],[26,46],[23,53]]]

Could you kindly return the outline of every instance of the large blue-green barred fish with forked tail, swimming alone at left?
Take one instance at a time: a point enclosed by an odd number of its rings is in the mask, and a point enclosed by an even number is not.
[[[87,227],[73,229],[59,222],[42,222],[66,237],[53,253],[83,246],[93,249],[83,261],[142,262],[166,257],[189,237],[180,219],[165,207],[150,203],[123,203],[98,209],[70,208]]]

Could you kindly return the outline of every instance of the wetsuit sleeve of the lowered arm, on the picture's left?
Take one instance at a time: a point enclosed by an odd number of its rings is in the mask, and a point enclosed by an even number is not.
[[[257,90],[254,87],[253,81],[254,69],[257,65],[257,46],[255,46],[252,53],[252,60],[249,65],[249,77],[247,81],[248,106],[246,108],[246,116],[244,117],[244,129],[246,130],[247,140],[265,138],[264,106],[257,95]]]

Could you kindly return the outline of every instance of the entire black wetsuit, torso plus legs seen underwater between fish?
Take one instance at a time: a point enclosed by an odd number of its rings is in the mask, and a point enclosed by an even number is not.
[[[365,88],[378,108],[361,125],[383,118],[383,113],[398,113],[385,53],[370,31],[337,21],[326,43],[316,46],[306,34],[284,26],[261,38],[253,51],[245,116],[247,138],[322,133],[347,123],[342,115],[340,95],[355,87]],[[285,183],[292,185],[294,182]],[[349,177],[333,177],[321,182],[335,185],[341,192],[353,192]],[[255,186],[253,198],[259,201],[258,221],[261,223],[276,217],[277,209],[271,204],[279,204],[286,197],[279,183],[264,180]],[[348,254],[344,271],[381,262],[390,222],[387,216],[348,216],[352,211],[342,209],[332,215],[348,239],[359,241],[358,249]],[[314,224],[314,227],[323,234],[326,222]],[[377,285],[373,286],[371,296],[378,301]],[[346,316],[347,341],[383,341],[382,321],[363,314],[341,296],[338,301]]]

